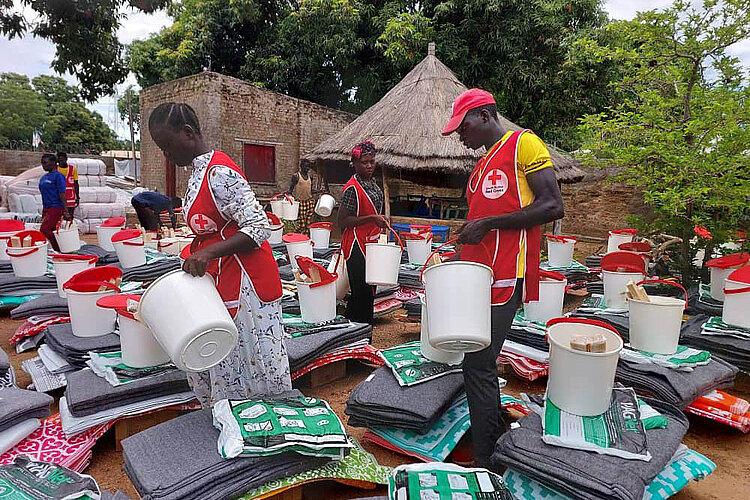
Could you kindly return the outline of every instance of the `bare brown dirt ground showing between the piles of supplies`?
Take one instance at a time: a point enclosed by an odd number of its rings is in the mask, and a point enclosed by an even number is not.
[[[576,258],[582,261],[585,255],[594,253],[600,246],[579,242],[576,245]],[[571,298],[568,297],[568,299]],[[572,309],[578,302],[580,302],[580,299],[566,299],[566,310]],[[404,311],[400,310],[378,320],[373,330],[373,345],[375,347],[387,348],[419,339],[419,324],[399,321],[398,316],[402,314],[404,314]],[[0,347],[10,357],[16,370],[19,387],[26,387],[31,383],[31,379],[21,370],[20,365],[23,360],[35,357],[36,351],[15,354],[15,349],[8,343],[8,338],[21,323],[21,321],[14,321],[7,317],[0,318]],[[327,400],[334,411],[346,422],[344,408],[349,394],[371,372],[372,368],[357,361],[349,361],[345,378],[312,389],[309,385],[309,375],[307,375],[297,380],[294,386],[307,395]],[[521,392],[544,392],[546,379],[528,382],[518,377],[510,368],[501,369],[500,375],[508,381],[508,385],[504,389],[507,394],[517,396]],[[750,377],[740,375],[736,380],[735,387],[731,389],[731,393],[750,399]],[[62,391],[53,394],[55,397],[61,395]],[[53,411],[57,411],[56,405]],[[713,460],[717,469],[707,479],[697,483],[691,482],[674,498],[679,500],[747,499],[747,481],[750,478],[750,434],[744,435],[727,426],[692,415],[689,416],[689,419],[690,431],[685,436],[685,444]],[[372,443],[362,442],[361,437],[364,434],[364,429],[347,426],[347,431],[357,438],[367,451],[375,455],[381,465],[396,466],[413,461],[408,457],[397,455]],[[138,498],[138,494],[123,470],[122,453],[115,451],[113,430],[105,434],[97,443],[93,453],[91,465],[86,473],[96,478],[99,485],[105,490],[120,489],[132,498]],[[333,482],[315,483],[303,490],[305,500],[344,500],[384,494],[386,494],[385,487],[365,491]]]

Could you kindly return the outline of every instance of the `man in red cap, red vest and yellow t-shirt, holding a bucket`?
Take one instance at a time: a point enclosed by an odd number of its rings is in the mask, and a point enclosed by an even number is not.
[[[443,135],[453,132],[466,147],[487,150],[469,177],[468,221],[458,241],[462,260],[487,264],[494,274],[492,343],[463,363],[475,463],[489,468],[509,426],[500,412],[497,356],[521,301],[539,298],[541,225],[563,217],[563,202],[544,142],[529,130],[507,130],[489,92],[471,89],[453,101]]]

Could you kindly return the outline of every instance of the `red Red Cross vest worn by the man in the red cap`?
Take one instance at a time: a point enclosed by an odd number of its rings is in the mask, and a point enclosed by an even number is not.
[[[514,132],[505,143],[490,150],[477,162],[469,177],[466,201],[468,220],[481,219],[517,212],[523,208],[518,184],[516,149],[526,130]],[[529,229],[489,231],[479,245],[464,245],[461,259],[480,262],[492,267],[492,304],[502,305],[513,297],[518,271],[518,254],[526,240],[524,302],[539,300],[539,247],[541,226]],[[489,261],[491,259],[491,261]]]

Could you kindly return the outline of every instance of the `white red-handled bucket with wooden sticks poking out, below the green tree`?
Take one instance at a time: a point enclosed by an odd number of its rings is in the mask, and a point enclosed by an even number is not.
[[[649,302],[628,298],[630,346],[654,354],[674,354],[680,342],[682,314],[687,307],[687,292],[679,283],[645,280],[637,283],[664,283],[677,286],[684,299],[650,295]]]

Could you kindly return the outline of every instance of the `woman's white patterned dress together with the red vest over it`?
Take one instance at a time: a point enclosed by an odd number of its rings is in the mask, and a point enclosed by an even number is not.
[[[266,240],[268,218],[242,170],[224,153],[211,151],[193,160],[184,198],[187,223],[196,234],[195,252],[237,232],[259,248],[209,264],[239,330],[230,355],[188,380],[204,407],[224,398],[247,399],[290,390],[289,360],[281,322],[281,282]]]

